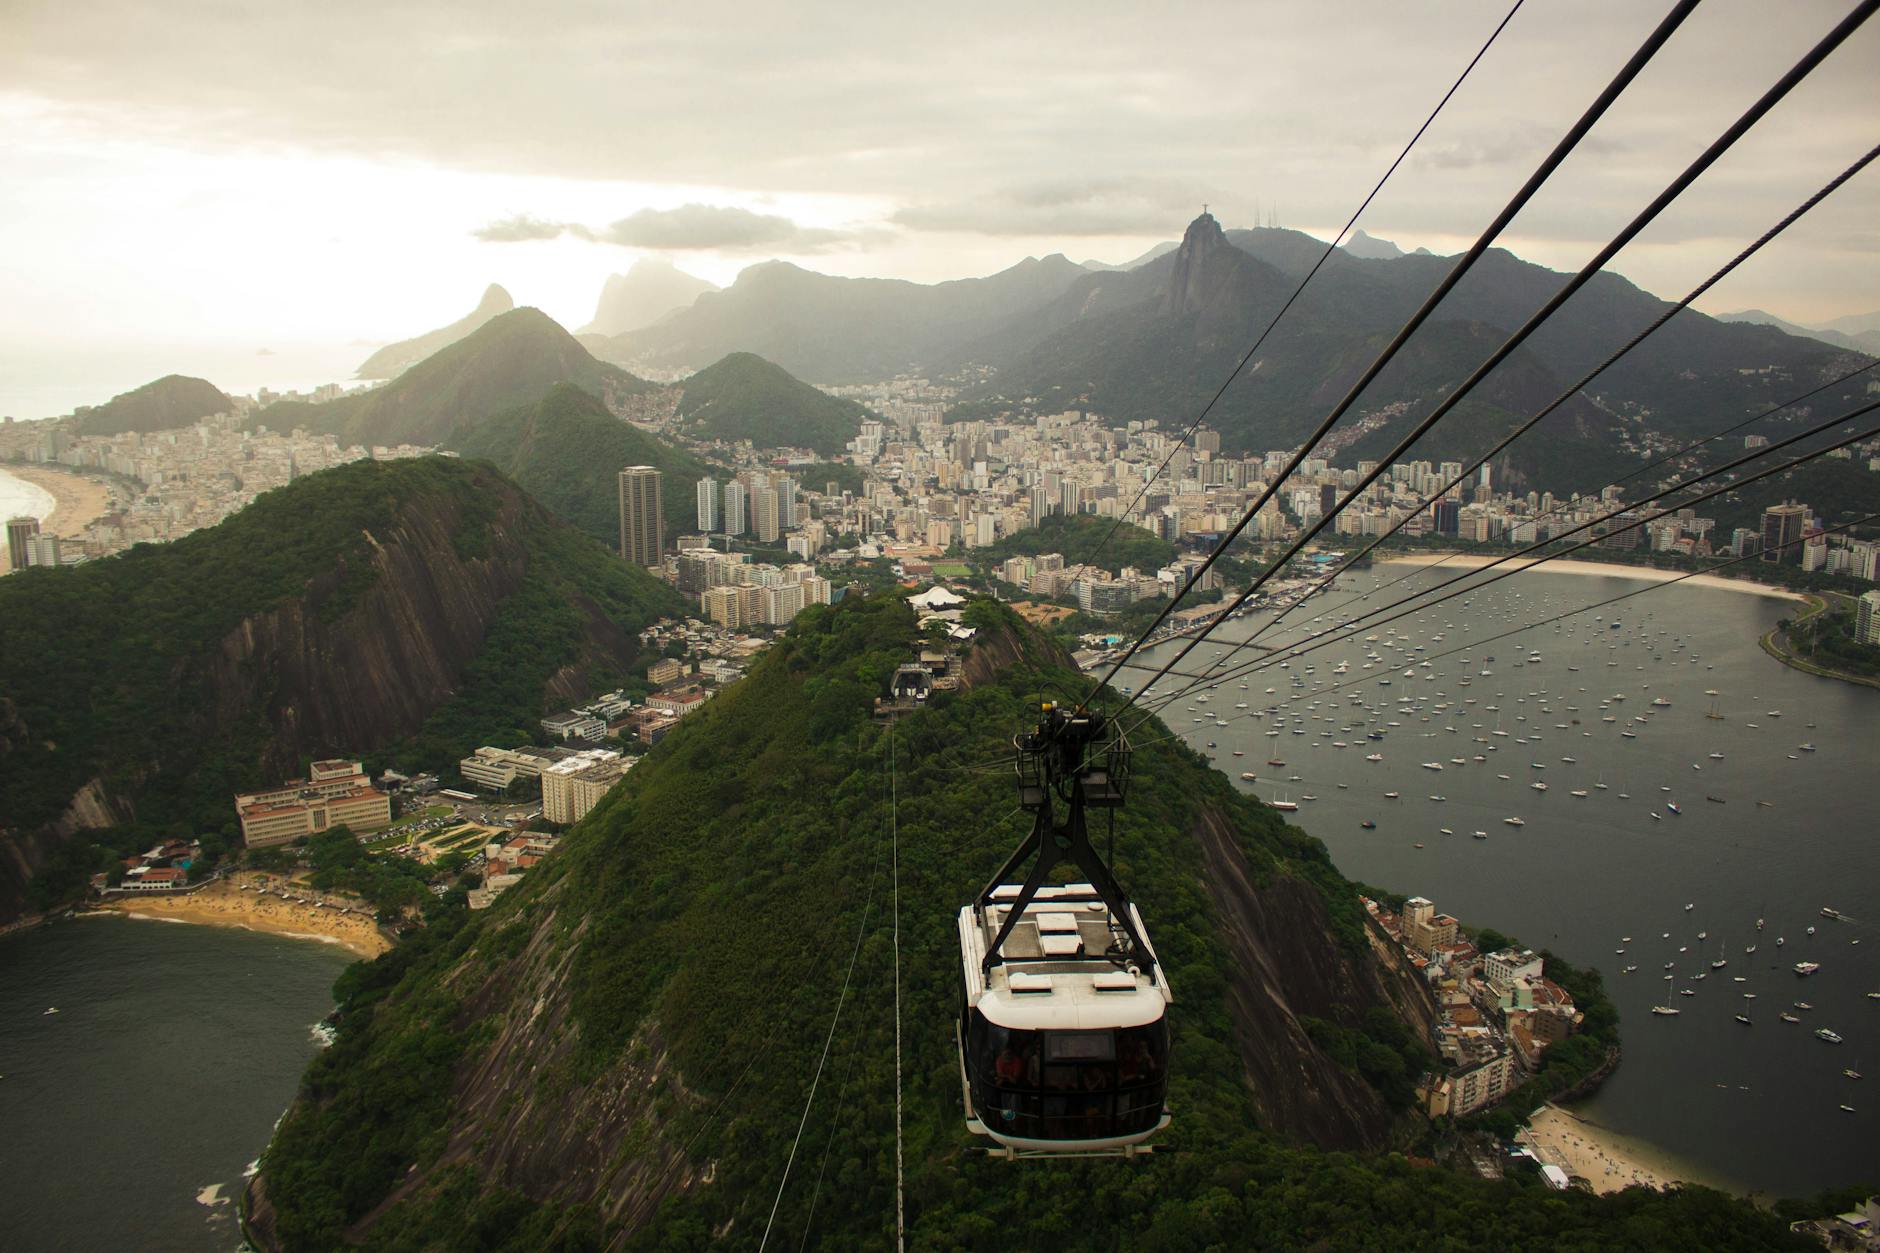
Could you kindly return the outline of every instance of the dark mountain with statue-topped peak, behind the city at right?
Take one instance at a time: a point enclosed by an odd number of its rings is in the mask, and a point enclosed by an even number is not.
[[[1324,245],[1284,230],[1226,233],[1198,218],[1183,246],[1136,271],[1089,275],[1062,297],[961,350],[953,365],[998,373],[968,399],[1042,397],[1087,404],[1117,420],[1186,421],[1228,376]],[[1335,254],[1222,397],[1214,423],[1226,444],[1263,452],[1295,444],[1357,380],[1391,333],[1436,286],[1453,258]],[[1359,399],[1346,425],[1371,418],[1344,461],[1395,444],[1564,277],[1491,250],[1423,331]],[[1455,410],[1434,442],[1410,455],[1438,459],[1480,448],[1594,367],[1664,301],[1600,275]],[[1606,482],[1645,433],[1707,435],[1718,416],[1747,416],[1859,357],[1769,327],[1726,325],[1696,312],[1673,318],[1589,395],[1575,395],[1534,438],[1496,465],[1498,482],[1587,487]],[[1852,397],[1852,389],[1846,393]],[[1542,459],[1547,474],[1536,474]]]

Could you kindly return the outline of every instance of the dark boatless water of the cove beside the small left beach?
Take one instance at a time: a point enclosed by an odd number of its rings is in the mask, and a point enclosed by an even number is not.
[[[350,960],[132,918],[0,939],[0,1245],[235,1249],[244,1172],[321,1048],[314,1025]]]

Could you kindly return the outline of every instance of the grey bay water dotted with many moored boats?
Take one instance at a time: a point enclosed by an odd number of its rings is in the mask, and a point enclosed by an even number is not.
[[[1357,576],[1355,593],[1404,570]],[[1363,608],[1449,574],[1414,574]],[[1468,926],[1598,967],[1622,1016],[1624,1061],[1579,1114],[1741,1191],[1801,1195],[1872,1180],[1880,1001],[1867,993],[1880,991],[1880,690],[1799,674],[1756,647],[1795,602],[1688,583],[1472,643],[1643,585],[1521,574],[1286,668],[1275,658],[1205,704],[1171,702],[1164,717],[1237,786],[1297,801],[1292,820],[1324,839],[1348,877],[1427,896]],[[1352,613],[1339,610],[1348,602],[1350,593],[1314,600],[1271,640],[1295,640],[1314,613],[1318,628],[1346,621]],[[1224,640],[1246,638],[1260,621],[1230,623]],[[1528,660],[1530,649],[1540,660]],[[1201,670],[1214,651],[1211,640],[1181,668]],[[1367,670],[1369,653],[1384,660]],[[1335,675],[1340,660],[1348,672]],[[1171,690],[1164,679],[1160,692]],[[1722,719],[1705,717],[1707,690],[1718,692]],[[1671,704],[1654,709],[1654,698]],[[1243,702],[1248,709],[1235,709]],[[1265,717],[1273,706],[1284,715]],[[1386,738],[1369,739],[1372,730]],[[1369,753],[1384,760],[1367,762]],[[1241,771],[1258,783],[1241,783]],[[1534,790],[1536,781],[1547,790]],[[1504,824],[1508,817],[1525,826]],[[1367,820],[1376,828],[1365,830]],[[1824,905],[1856,922],[1824,918]],[[1728,965],[1709,969],[1718,956]],[[1792,965],[1803,960],[1820,973],[1797,976]],[[1677,995],[1683,988],[1694,995]],[[1681,1014],[1658,1018],[1653,1005]],[[1782,1022],[1784,1010],[1801,1022]],[[1816,1039],[1818,1027],[1844,1042]]]

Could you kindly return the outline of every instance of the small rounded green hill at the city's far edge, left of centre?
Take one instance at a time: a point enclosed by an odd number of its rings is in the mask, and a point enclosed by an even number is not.
[[[679,416],[707,440],[750,440],[758,448],[844,450],[869,410],[818,391],[750,352],[733,352],[679,384]]]

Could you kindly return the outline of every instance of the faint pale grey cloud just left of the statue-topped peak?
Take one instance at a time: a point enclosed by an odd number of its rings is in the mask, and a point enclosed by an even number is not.
[[[1207,192],[1151,179],[1034,182],[968,199],[923,201],[897,226],[974,235],[1152,235],[1179,228]]]

